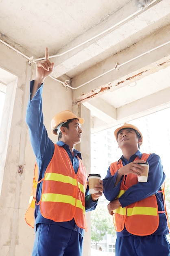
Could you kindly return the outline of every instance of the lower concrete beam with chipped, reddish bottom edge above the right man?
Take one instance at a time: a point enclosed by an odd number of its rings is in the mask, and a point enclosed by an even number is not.
[[[73,90],[74,103],[89,101],[90,98],[105,93],[107,90],[117,90],[120,86],[123,87],[170,65],[169,31],[170,25],[163,27],[135,45],[110,56],[100,65],[91,67],[72,79],[72,86],[79,87]],[[158,48],[155,49],[156,47]],[[120,68],[114,69],[117,62]],[[109,70],[111,71],[102,75]],[[95,79],[96,77],[98,78]]]

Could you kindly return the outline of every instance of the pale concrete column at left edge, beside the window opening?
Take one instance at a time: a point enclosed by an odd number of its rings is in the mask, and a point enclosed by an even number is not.
[[[24,70],[25,68],[25,70]],[[19,76],[7,85],[0,134],[0,168],[2,189],[0,193],[0,255],[15,256],[26,252],[28,233],[24,220],[26,186],[25,167],[26,124],[25,112],[31,67],[23,67],[26,77]]]

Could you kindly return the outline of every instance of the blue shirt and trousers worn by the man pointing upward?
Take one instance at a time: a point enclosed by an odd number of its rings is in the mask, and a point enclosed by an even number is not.
[[[31,81],[30,92],[33,89],[34,80]],[[26,112],[26,124],[29,128],[29,136],[36,162],[39,166],[39,180],[44,177],[44,173],[54,154],[54,143],[44,126],[42,113],[42,90],[43,85],[37,90],[33,99],[28,101]],[[62,141],[57,141],[57,145],[63,147],[72,162],[75,173],[78,171],[81,153],[74,149],[72,155],[70,148]],[[37,184],[36,200],[41,198],[42,182]],[[96,208],[97,201],[94,202],[89,194],[87,186],[85,192],[85,210],[92,211]],[[60,211],[60,209],[59,209]],[[35,243],[32,256],[81,256],[83,247],[84,229],[78,227],[74,219],[67,222],[54,222],[41,215],[39,205],[35,206]]]

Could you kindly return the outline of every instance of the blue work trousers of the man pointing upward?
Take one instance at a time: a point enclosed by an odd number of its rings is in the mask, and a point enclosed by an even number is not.
[[[83,237],[59,225],[38,224],[32,256],[82,256]]]

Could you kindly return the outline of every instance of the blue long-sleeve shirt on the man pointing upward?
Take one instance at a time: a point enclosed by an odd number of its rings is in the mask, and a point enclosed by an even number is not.
[[[34,81],[31,81],[30,92],[32,92]],[[37,90],[33,99],[28,101],[27,112],[26,112],[26,124],[29,128],[29,136],[31,140],[31,145],[33,148],[33,152],[36,157],[36,162],[39,167],[39,180],[44,177],[44,173],[48,164],[50,163],[52,156],[54,154],[54,143],[50,138],[48,138],[48,134],[46,128],[44,126],[44,119],[42,113],[42,90],[43,85]],[[82,159],[81,153],[74,149],[74,155],[72,155],[70,148],[67,144],[63,143],[63,141],[57,141],[57,145],[62,146],[68,153],[70,160],[72,162],[75,173],[78,171],[79,161],[78,158]],[[42,182],[37,184],[37,192],[36,192],[36,200],[39,202],[41,198],[42,191]],[[85,210],[92,211],[96,208],[97,203],[94,202],[89,194],[89,187],[87,186],[85,192]],[[68,222],[54,222],[53,220],[49,220],[44,218],[41,215],[39,205],[35,206],[35,227],[38,223],[48,223],[54,225],[60,225],[68,229],[75,230],[79,232],[82,236],[84,234],[84,229],[78,227],[74,221],[74,219]]]

